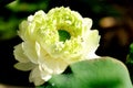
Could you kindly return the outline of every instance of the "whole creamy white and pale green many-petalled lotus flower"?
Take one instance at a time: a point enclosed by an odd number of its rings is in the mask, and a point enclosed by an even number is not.
[[[91,26],[91,19],[69,8],[35,12],[20,24],[18,33],[23,42],[14,46],[19,62],[14,67],[31,70],[29,79],[39,86],[72,63],[95,58],[100,36]]]

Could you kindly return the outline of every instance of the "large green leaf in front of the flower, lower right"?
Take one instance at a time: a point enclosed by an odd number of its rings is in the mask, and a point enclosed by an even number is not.
[[[55,75],[43,88],[133,88],[125,65],[111,57],[88,59]]]

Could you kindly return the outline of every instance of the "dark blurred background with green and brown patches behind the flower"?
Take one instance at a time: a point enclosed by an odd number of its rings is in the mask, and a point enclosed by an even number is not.
[[[101,35],[96,54],[122,61],[133,79],[133,66],[126,63],[133,42],[133,0],[0,0],[0,84],[33,86],[29,84],[29,72],[13,68],[13,46],[21,42],[18,25],[40,9],[48,12],[62,6],[93,20],[92,29]]]

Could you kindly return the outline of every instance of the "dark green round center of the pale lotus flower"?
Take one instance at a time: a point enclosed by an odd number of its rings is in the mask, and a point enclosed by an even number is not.
[[[71,35],[69,32],[66,32],[65,30],[58,30],[59,33],[59,37],[61,42],[65,42],[66,40],[70,40]]]

